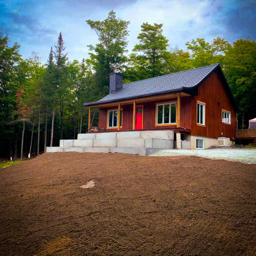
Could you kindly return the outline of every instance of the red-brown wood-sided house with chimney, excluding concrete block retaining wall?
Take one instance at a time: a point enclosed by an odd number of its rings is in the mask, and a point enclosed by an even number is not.
[[[122,84],[110,75],[110,93],[89,106],[99,108],[98,132],[172,130],[190,148],[236,138],[238,106],[219,64]]]

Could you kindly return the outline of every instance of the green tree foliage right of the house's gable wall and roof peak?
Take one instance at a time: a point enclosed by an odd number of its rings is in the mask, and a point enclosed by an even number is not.
[[[252,119],[256,113],[256,41],[240,39],[226,51],[225,75],[236,97],[241,113],[239,118]],[[248,124],[242,121],[243,127]]]

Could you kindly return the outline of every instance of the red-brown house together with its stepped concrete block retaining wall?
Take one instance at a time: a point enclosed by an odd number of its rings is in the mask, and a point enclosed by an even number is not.
[[[236,138],[238,106],[219,64],[126,84],[122,80],[122,74],[110,74],[109,94],[84,103],[89,133],[61,140],[48,152],[149,155],[164,148],[204,149],[217,146],[220,137]],[[99,109],[98,127],[91,127],[92,108]]]

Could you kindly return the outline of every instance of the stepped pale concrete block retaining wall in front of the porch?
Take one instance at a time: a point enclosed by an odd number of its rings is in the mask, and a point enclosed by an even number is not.
[[[59,144],[59,147],[47,147],[47,152],[115,152],[144,156],[153,149],[174,148],[174,132],[131,131],[78,134],[77,140],[60,140]]]

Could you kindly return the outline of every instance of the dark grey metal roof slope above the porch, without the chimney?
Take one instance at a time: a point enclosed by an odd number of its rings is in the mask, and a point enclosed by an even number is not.
[[[146,97],[150,95],[191,89],[201,83],[218,66],[219,64],[215,64],[198,69],[190,69],[169,75],[126,83],[117,92],[106,95],[98,101],[84,103],[84,105],[100,104],[104,102]]]

